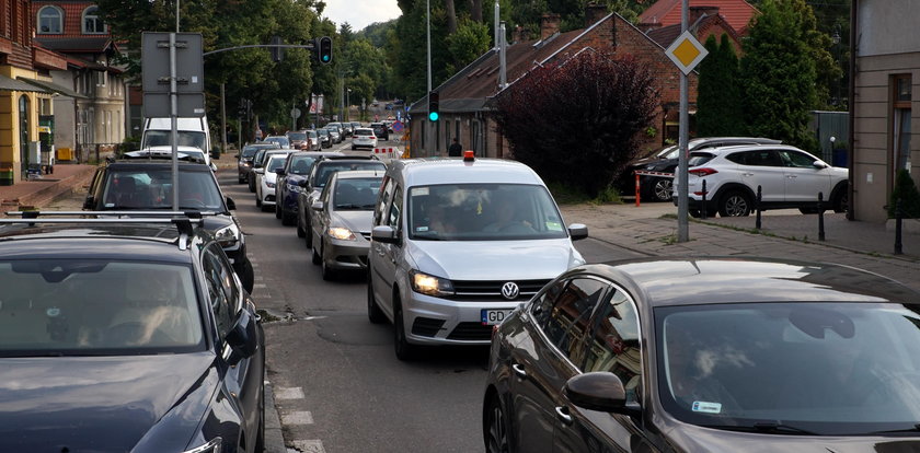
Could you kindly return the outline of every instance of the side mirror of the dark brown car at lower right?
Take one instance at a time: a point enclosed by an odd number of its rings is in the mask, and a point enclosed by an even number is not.
[[[626,391],[616,374],[595,371],[570,379],[562,392],[572,404],[588,410],[636,416],[639,405],[626,404]]]

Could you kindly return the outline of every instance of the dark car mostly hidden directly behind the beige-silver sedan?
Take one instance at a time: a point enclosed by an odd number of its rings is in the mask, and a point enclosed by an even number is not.
[[[357,155],[325,155],[313,163],[313,166],[310,169],[310,176],[307,177],[307,181],[300,183],[304,190],[297,194],[297,229],[298,231],[302,230],[308,233],[304,234],[308,247],[313,246],[313,235],[309,234],[313,224],[313,210],[310,209],[310,207],[312,207],[313,201],[320,197],[320,194],[329,183],[330,177],[332,177],[335,172],[340,171],[380,171],[386,167],[387,166],[383,162],[378,161],[372,155],[366,158]]]

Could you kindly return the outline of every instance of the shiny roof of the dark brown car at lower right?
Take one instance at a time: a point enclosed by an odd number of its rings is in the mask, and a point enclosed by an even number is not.
[[[920,293],[849,266],[759,257],[656,257],[585,265],[624,282],[651,306],[747,302],[898,302],[920,304]],[[633,294],[635,295],[635,294]]]

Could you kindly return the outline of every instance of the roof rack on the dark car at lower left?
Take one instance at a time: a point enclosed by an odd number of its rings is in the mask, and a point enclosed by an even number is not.
[[[126,224],[126,223],[163,223],[174,224],[179,230],[179,248],[186,249],[188,246],[188,236],[191,236],[195,229],[192,224],[203,224],[203,216],[211,214],[214,212],[197,212],[197,211],[9,211],[8,216],[22,216],[21,219],[0,219],[0,224],[28,224],[36,223],[72,223],[72,224]],[[124,218],[122,216],[133,214],[133,217]],[[138,217],[139,214],[150,214],[148,217]],[[46,216],[39,219],[41,216]],[[62,216],[69,218],[48,218],[50,216]],[[79,218],[77,218],[79,216]],[[103,218],[87,218],[85,216],[106,216]],[[117,217],[111,217],[117,216]]]

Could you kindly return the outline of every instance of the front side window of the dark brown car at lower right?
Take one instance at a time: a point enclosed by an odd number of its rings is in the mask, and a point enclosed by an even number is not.
[[[584,358],[575,362],[584,372],[609,371],[626,390],[626,400],[639,400],[642,382],[639,313],[622,290],[611,287],[591,321]]]

